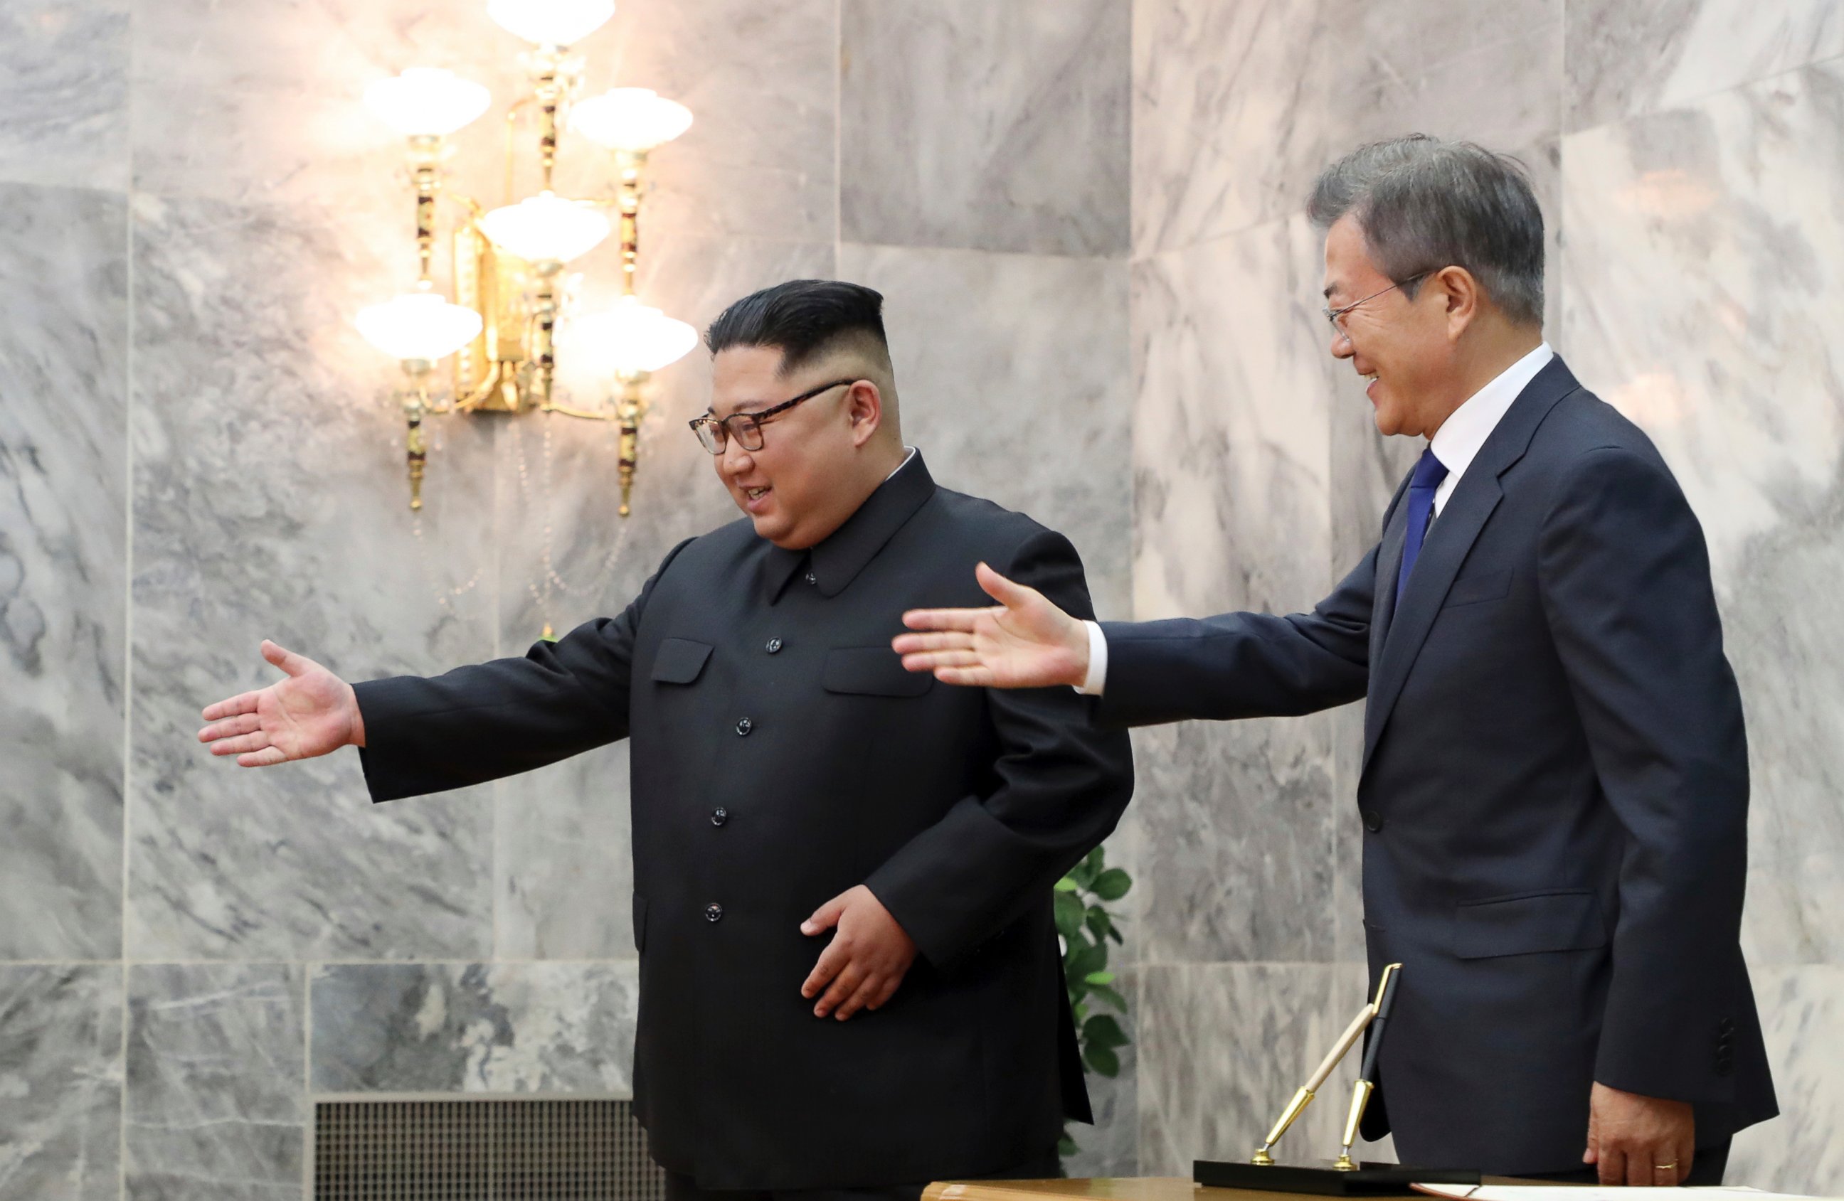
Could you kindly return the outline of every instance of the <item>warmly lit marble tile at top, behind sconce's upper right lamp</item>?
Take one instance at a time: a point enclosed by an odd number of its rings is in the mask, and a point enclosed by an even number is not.
[[[651,157],[642,256],[662,234],[835,238],[837,7],[837,0],[627,0],[583,42],[585,96],[645,87],[693,114],[692,129]],[[561,155],[561,186],[605,193],[612,179],[605,151],[566,133]]]

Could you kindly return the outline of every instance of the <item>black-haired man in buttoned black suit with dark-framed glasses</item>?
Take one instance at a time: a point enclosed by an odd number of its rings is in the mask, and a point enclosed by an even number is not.
[[[675,1199],[1057,1175],[1088,1120],[1051,886],[1125,809],[1127,735],[891,652],[983,560],[1092,610],[1064,536],[905,451],[880,309],[798,280],[712,324],[692,426],[747,516],[620,617],[356,687],[264,643],[288,680],[205,711],[247,766],[360,746],[380,801],[631,740],[634,1102]]]

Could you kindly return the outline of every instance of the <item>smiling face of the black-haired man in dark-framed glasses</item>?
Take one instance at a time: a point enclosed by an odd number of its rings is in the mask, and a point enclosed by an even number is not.
[[[730,346],[712,359],[715,418],[762,413],[824,383],[850,381],[763,422],[762,449],[728,438],[712,455],[736,507],[774,545],[798,551],[824,540],[902,462],[902,438],[883,427],[883,396],[867,367],[850,352],[822,354],[784,376],[778,346]]]

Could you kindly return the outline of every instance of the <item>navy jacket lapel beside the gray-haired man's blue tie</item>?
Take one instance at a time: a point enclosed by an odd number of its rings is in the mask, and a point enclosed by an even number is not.
[[[1453,488],[1453,496],[1448,497],[1435,525],[1427,531],[1427,542],[1422,543],[1422,553],[1414,560],[1414,571],[1409,575],[1409,586],[1401,593],[1401,606],[1394,612],[1390,612],[1390,604],[1396,595],[1396,573],[1401,567],[1401,545],[1407,536],[1407,507],[1398,507],[1398,512],[1390,516],[1383,531],[1383,554],[1377,558],[1377,591],[1387,593],[1387,597],[1379,595],[1376,604],[1377,615],[1383,619],[1383,634],[1377,635],[1372,628],[1370,637],[1365,768],[1370,766],[1370,755],[1376,752],[1377,739],[1383,737],[1383,726],[1389,722],[1389,715],[1396,707],[1396,698],[1409,680],[1409,669],[1422,652],[1427,632],[1435,626],[1435,617],[1440,613],[1440,604],[1453,586],[1453,577],[1459,575],[1460,564],[1466,562],[1466,554],[1473,549],[1473,542],[1479,538],[1479,531],[1484,529],[1492,510],[1505,499],[1499,475],[1523,459],[1523,451],[1529,449],[1536,427],[1558,400],[1578,387],[1560,356],[1551,359],[1525,385],[1523,392],[1518,394],[1518,400],[1512,402],[1510,409],[1505,411],[1505,416],[1486,438],[1486,444],[1479,448],[1479,455],[1473,457],[1472,466],[1466,468],[1460,483]],[[1394,553],[1390,553],[1392,534]],[[1389,575],[1383,575],[1385,567]]]

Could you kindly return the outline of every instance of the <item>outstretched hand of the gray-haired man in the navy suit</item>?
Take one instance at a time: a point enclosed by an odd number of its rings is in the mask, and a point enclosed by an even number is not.
[[[987,689],[1081,687],[1088,678],[1088,630],[1044,593],[1014,584],[992,567],[974,571],[999,604],[985,610],[909,610],[904,624],[926,634],[891,641],[909,670],[931,670],[942,683]]]

